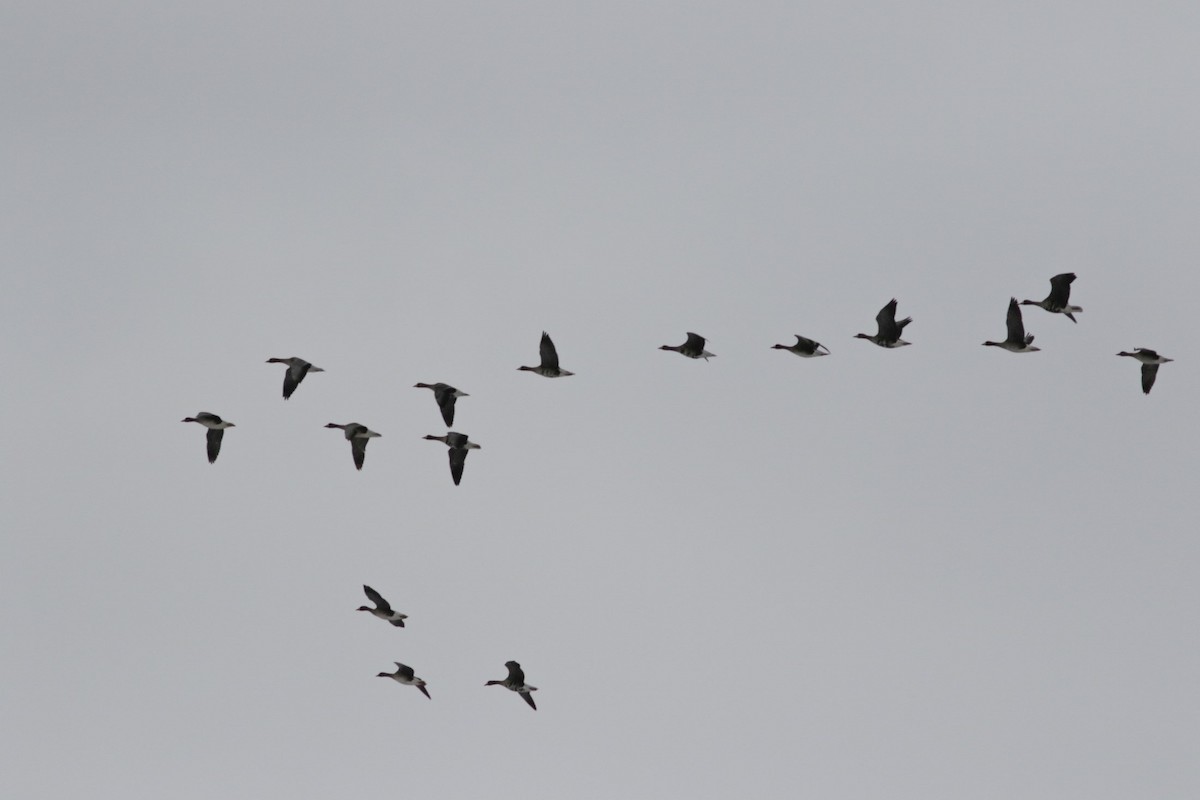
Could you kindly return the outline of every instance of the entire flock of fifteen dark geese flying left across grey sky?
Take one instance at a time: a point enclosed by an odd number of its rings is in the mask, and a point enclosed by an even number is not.
[[[1033,335],[1025,332],[1021,306],[1038,306],[1039,308],[1043,308],[1052,314],[1062,314],[1070,321],[1078,323],[1079,320],[1075,319],[1075,314],[1081,313],[1084,309],[1079,306],[1070,305],[1070,284],[1074,281],[1074,272],[1063,272],[1050,278],[1050,294],[1046,295],[1044,300],[1022,300],[1018,302],[1016,297],[1009,299],[1007,315],[1008,336],[1002,342],[984,342],[984,347],[998,347],[1008,350],[1009,353],[1036,353],[1040,350],[1040,348],[1033,347]],[[910,344],[910,342],[905,342],[900,337],[904,333],[904,329],[912,323],[912,317],[896,320],[896,301],[894,299],[880,309],[880,313],[875,317],[875,321],[877,330],[874,335],[856,333],[854,338],[866,339],[886,349],[894,349]],[[664,344],[659,349],[672,350],[689,359],[704,359],[706,361],[715,356],[715,354],[709,353],[706,349],[704,337],[691,332],[688,333],[688,339],[683,344]],[[803,359],[829,355],[829,349],[827,347],[820,342],[799,335],[796,335],[796,344],[775,344],[773,345],[773,349],[787,350],[788,353],[793,353]],[[575,374],[559,366],[558,350],[554,348],[554,342],[551,341],[550,335],[545,331],[542,331],[541,335],[539,355],[540,362],[536,366],[522,366],[517,367],[517,369],[533,372],[544,378],[565,378]],[[1135,359],[1141,362],[1141,389],[1146,395],[1150,393],[1151,387],[1154,385],[1159,366],[1174,360],[1160,356],[1157,351],[1148,348],[1135,348],[1132,353],[1122,350],[1121,353],[1117,353],[1117,355]],[[283,399],[292,397],[310,373],[324,372],[320,367],[313,366],[308,361],[294,356],[288,359],[268,359],[266,363],[282,363],[287,367],[287,371],[283,373]],[[433,391],[433,399],[437,403],[438,409],[442,413],[442,419],[446,423],[448,428],[454,426],[455,403],[460,397],[468,397],[466,392],[444,383],[419,383],[415,384],[414,389],[428,389]],[[206,438],[209,463],[215,463],[221,452],[221,440],[224,437],[224,432],[228,428],[234,427],[234,423],[209,411],[200,411],[196,416],[185,417],[182,421],[197,422],[208,428]],[[367,443],[380,434],[371,431],[367,426],[359,422],[347,422],[344,425],[330,422],[325,427],[342,431],[346,440],[350,443],[350,455],[354,458],[354,467],[361,470],[366,459]],[[446,445],[450,456],[450,476],[454,480],[455,486],[458,486],[462,481],[463,468],[467,463],[467,453],[472,450],[479,450],[480,445],[470,441],[467,434],[456,433],[454,431],[449,431],[445,435],[430,434],[426,435],[425,439],[440,441]],[[383,595],[371,587],[364,585],[362,590],[366,593],[367,599],[374,603],[374,607],[360,606],[358,610],[370,612],[374,616],[378,616],[396,627],[404,627],[404,619],[407,618],[406,614],[394,610],[391,604],[384,600]],[[425,697],[430,697],[430,692],[426,688],[426,681],[418,678],[412,667],[400,662],[394,663],[396,664],[396,672],[382,672],[378,676],[391,678],[396,682],[404,686],[415,686],[422,694],[425,694]],[[516,661],[508,661],[504,666],[509,670],[508,676],[502,680],[490,680],[485,685],[504,686],[505,688],[520,694],[524,702],[529,704],[529,708],[536,710],[538,706],[532,697],[532,692],[536,691],[536,687],[526,682],[524,672],[521,669],[521,664]]]

